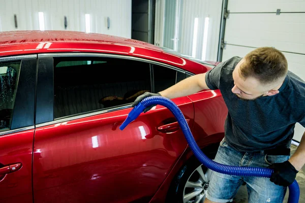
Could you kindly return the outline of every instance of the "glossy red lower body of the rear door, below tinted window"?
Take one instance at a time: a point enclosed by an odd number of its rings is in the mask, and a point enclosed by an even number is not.
[[[174,101],[192,126],[191,100],[181,97]],[[157,130],[175,121],[172,113],[159,105],[142,113],[124,131],[119,130],[130,110],[37,128],[35,201],[149,201],[187,143],[181,130],[167,133]]]

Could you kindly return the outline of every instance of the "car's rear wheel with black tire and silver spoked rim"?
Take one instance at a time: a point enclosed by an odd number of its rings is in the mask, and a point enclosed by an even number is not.
[[[219,144],[215,144],[202,151],[210,159],[214,159],[218,147]],[[203,203],[208,189],[210,172],[195,156],[192,156],[173,179],[166,202]]]

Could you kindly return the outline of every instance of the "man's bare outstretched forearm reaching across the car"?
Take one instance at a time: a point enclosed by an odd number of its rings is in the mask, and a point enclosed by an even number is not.
[[[167,98],[176,98],[180,96],[188,96],[203,89],[209,89],[205,82],[205,73],[181,80],[177,84],[159,93]]]

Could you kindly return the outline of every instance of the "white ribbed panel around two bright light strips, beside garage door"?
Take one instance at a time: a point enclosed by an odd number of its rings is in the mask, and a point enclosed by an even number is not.
[[[217,61],[222,1],[194,0],[183,1],[180,17],[180,50],[182,54],[192,56],[194,21],[198,18],[196,55],[202,58],[203,32],[205,18],[209,17],[206,60]]]

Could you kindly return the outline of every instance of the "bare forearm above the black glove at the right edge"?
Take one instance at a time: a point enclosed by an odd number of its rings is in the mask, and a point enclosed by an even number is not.
[[[299,146],[294,154],[290,157],[289,162],[295,167],[297,171],[300,171],[305,164],[305,132]]]

